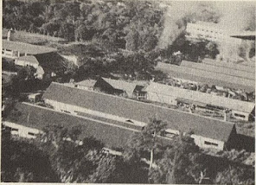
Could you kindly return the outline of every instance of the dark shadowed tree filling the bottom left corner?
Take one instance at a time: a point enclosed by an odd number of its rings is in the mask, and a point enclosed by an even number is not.
[[[48,155],[28,140],[10,137],[10,129],[2,128],[2,182],[59,182]]]

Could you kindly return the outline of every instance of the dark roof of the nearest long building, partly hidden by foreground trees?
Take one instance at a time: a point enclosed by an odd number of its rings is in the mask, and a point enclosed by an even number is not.
[[[21,116],[17,118],[16,124],[22,124],[39,130],[42,130],[48,125],[62,125],[68,129],[74,126],[81,126],[80,139],[84,137],[96,137],[111,148],[123,147],[134,133],[134,131],[107,124],[100,124],[85,118],[77,118],[72,115],[50,111],[41,107],[17,104],[16,109],[22,113]]]

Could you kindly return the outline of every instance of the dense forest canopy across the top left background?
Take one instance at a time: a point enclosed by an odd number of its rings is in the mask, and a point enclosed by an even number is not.
[[[101,39],[131,50],[155,48],[163,24],[157,5],[141,2],[4,1],[3,15],[4,28],[67,41]]]

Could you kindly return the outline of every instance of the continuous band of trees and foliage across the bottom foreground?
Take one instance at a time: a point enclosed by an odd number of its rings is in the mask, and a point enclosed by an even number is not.
[[[1,145],[2,181],[253,183],[252,166],[225,156],[205,155],[188,136],[174,137],[169,144],[163,144],[159,137],[163,128],[162,121],[152,119],[144,131],[131,138],[119,156],[106,153],[104,144],[96,138],[80,136],[80,127],[68,130],[51,125],[35,140],[10,137],[10,129],[5,127]],[[145,162],[149,162],[151,150],[154,165],[149,168]],[[238,156],[232,156],[235,157]]]

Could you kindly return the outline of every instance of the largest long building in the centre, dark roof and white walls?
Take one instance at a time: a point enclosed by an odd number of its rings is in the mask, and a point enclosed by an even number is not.
[[[196,116],[169,108],[124,99],[101,92],[81,90],[53,82],[43,95],[46,104],[56,111],[91,114],[118,122],[144,126],[157,116],[168,126],[166,137],[190,133],[202,148],[224,150],[235,141],[235,125],[221,120]]]

